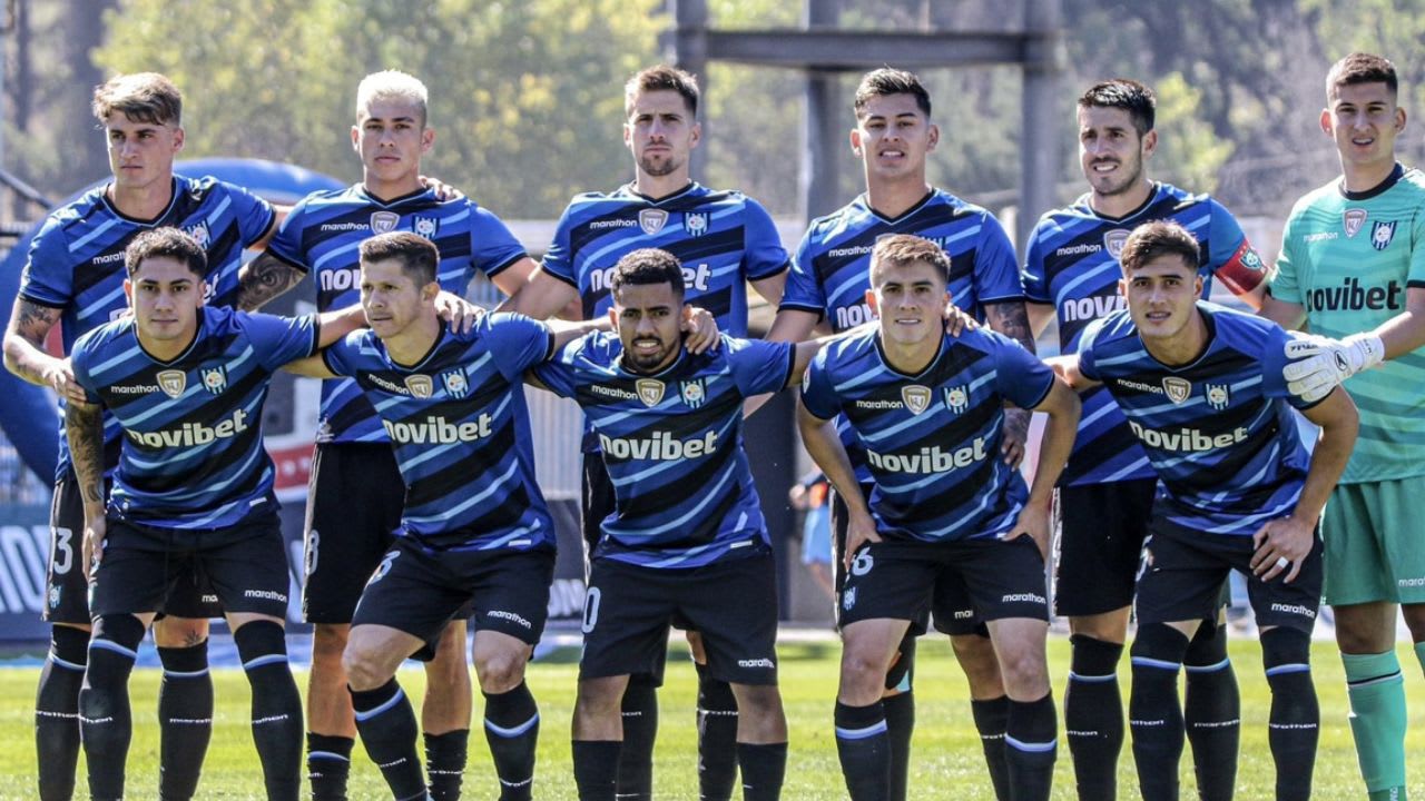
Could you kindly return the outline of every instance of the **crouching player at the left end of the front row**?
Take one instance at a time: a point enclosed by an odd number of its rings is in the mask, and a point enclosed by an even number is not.
[[[90,794],[124,795],[135,648],[174,584],[201,567],[252,686],[266,795],[295,801],[302,703],[282,633],[286,556],[262,402],[272,371],[353,329],[361,314],[292,319],[205,308],[207,255],[175,228],[134,238],[124,268],[133,316],[74,343],[74,382],[86,399],[66,408],[84,564],[90,554],[95,564],[87,570],[94,636],[80,693]],[[104,409],[123,439],[111,492]]]

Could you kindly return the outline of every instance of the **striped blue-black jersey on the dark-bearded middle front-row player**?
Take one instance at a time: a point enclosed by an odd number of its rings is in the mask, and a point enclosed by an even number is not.
[[[624,369],[616,334],[564,346],[534,375],[583,406],[616,510],[594,554],[644,567],[698,567],[765,553],[767,522],[742,450],[742,400],[787,385],[792,345],[722,335],[667,369]]]

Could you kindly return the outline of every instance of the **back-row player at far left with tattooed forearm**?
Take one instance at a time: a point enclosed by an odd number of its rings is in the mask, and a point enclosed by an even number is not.
[[[178,227],[207,252],[208,305],[234,305],[251,291],[239,281],[242,248],[262,247],[275,228],[272,207],[239,187],[212,178],[174,175],[184,144],[182,95],[157,73],[118,76],[94,90],[94,117],[108,143],[113,180],[60,208],[30,247],[10,325],[4,334],[6,366],[20,378],[50,386],[66,400],[84,400],[68,363],[44,351],[50,329],[61,325],[64,351],[80,335],[124,312],[124,249],[140,232]],[[108,412],[104,469],[118,465],[118,425]],[[90,637],[90,609],[80,559],[84,512],[60,429],[60,463],[50,510],[50,560],[46,619],[53,624],[50,654],[40,674],[34,730],[38,792],[44,801],[74,791],[80,751],[78,696]],[[221,613],[202,603],[211,593],[188,577],[154,626],[164,678],[158,696],[162,730],[160,791],[190,798],[198,784],[212,727],[208,677],[208,617]]]

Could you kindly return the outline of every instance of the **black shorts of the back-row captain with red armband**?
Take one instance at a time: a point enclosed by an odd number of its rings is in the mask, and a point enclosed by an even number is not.
[[[1157,479],[1059,487],[1054,613],[1103,614],[1133,603]]]

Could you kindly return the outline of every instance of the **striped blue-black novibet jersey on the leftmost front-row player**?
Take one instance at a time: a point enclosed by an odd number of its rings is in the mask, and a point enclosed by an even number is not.
[[[316,351],[316,319],[198,312],[198,334],[161,362],[133,318],[74,343],[74,379],[123,426],[108,509],[164,529],[218,529],[276,507],[262,448],[272,372]]]

